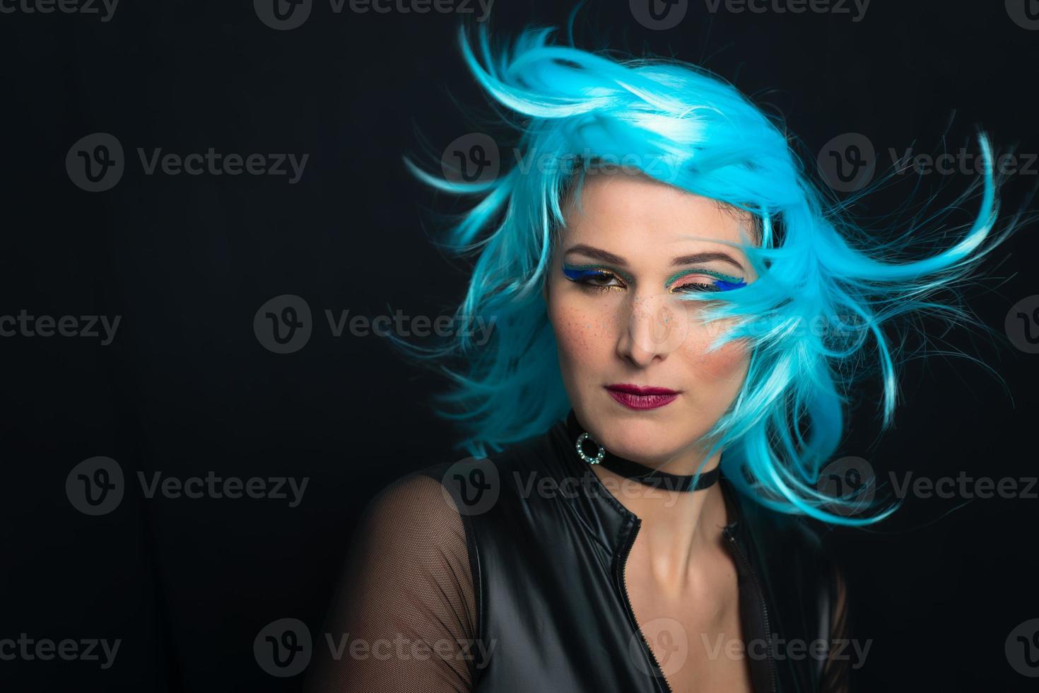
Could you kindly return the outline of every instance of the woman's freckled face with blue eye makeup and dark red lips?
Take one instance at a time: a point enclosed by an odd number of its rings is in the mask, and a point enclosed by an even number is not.
[[[684,292],[751,283],[750,218],[643,176],[590,175],[544,285],[563,382],[578,419],[614,454],[660,465],[689,453],[739,392],[748,353],[711,353],[709,325]],[[698,239],[691,239],[697,236]],[[697,460],[698,461],[698,460]],[[691,471],[690,471],[691,472]]]

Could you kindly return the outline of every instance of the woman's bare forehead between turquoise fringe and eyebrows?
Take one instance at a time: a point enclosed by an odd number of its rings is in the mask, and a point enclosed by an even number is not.
[[[563,240],[609,244],[619,254],[670,254],[678,245],[724,246],[753,238],[749,213],[647,176],[590,171],[565,209]],[[745,238],[741,239],[741,229]]]

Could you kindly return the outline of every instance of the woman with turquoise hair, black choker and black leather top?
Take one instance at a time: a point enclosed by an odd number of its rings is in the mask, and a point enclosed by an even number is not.
[[[847,690],[868,643],[807,521],[893,509],[822,472],[863,365],[890,422],[882,325],[959,316],[928,297],[1009,233],[988,142],[977,221],[912,259],[922,230],[881,242],[841,218],[732,86],[550,35],[496,55],[481,33],[479,58],[462,36],[518,115],[516,165],[412,167],[476,196],[451,238],[476,256],[458,314],[494,339],[422,355],[460,362],[448,412],[489,458],[372,501],[315,690]]]

